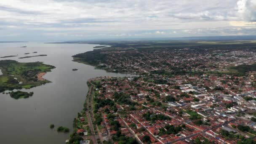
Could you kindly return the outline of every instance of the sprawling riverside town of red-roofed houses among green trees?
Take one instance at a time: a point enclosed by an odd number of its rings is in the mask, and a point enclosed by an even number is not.
[[[139,76],[90,80],[91,105],[75,120],[92,117],[93,128],[81,124],[75,136],[100,144],[256,143],[256,51],[131,51],[101,50],[111,54],[98,66]]]

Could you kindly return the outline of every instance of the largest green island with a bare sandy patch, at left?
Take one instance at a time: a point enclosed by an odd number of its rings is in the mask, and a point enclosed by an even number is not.
[[[51,72],[54,66],[43,64],[43,62],[19,63],[14,60],[0,61],[0,92],[14,89],[32,88],[51,81],[41,79],[40,75]]]

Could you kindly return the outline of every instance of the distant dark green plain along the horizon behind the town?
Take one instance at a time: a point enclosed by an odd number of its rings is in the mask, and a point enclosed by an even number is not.
[[[227,37],[222,37],[225,41],[187,41],[186,38],[179,40],[141,40],[141,41],[95,41],[95,42],[64,42],[64,43],[90,43],[100,45],[112,45],[110,48],[139,48],[140,50],[149,49],[173,49],[173,48],[216,48],[228,50],[229,48],[256,48],[255,41],[253,40],[227,40]]]

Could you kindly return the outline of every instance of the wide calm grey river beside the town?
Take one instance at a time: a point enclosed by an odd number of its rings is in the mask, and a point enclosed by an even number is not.
[[[27,48],[21,48],[25,45]],[[64,144],[69,133],[58,133],[49,125],[66,126],[73,131],[73,120],[82,110],[88,91],[86,81],[99,76],[131,76],[109,73],[72,61],[72,55],[92,51],[94,46],[98,45],[0,43],[0,57],[19,55],[0,60],[43,61],[56,67],[44,76],[52,83],[24,90],[34,92],[28,99],[16,100],[0,93],[0,144]],[[33,53],[35,51],[37,53]],[[48,56],[18,59],[39,54]],[[72,71],[74,68],[78,71]]]

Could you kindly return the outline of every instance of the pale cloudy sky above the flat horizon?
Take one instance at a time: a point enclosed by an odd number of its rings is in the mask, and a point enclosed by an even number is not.
[[[256,35],[256,0],[0,0],[0,41]]]

